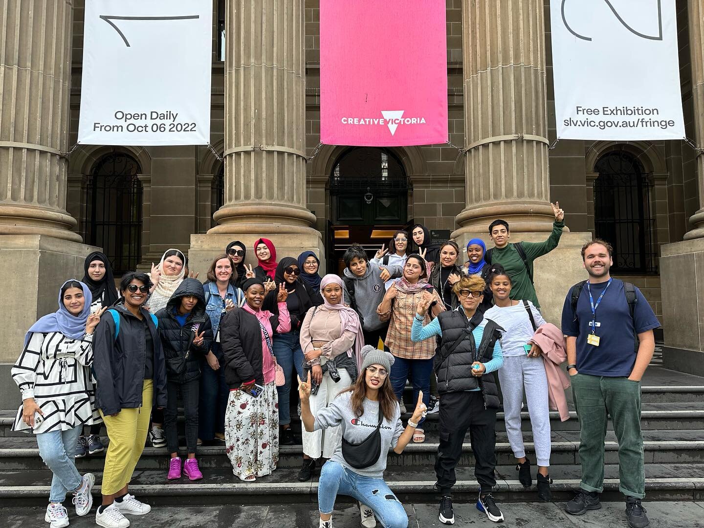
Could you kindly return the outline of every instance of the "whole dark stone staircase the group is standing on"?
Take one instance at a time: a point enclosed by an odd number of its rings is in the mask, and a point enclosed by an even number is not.
[[[645,444],[647,500],[700,500],[704,498],[704,378],[651,366],[643,379],[641,424]],[[410,390],[406,400],[410,402]],[[551,415],[553,455],[551,477],[555,501],[571,497],[579,484],[579,422],[574,413],[567,422]],[[49,493],[51,472],[39,457],[34,437],[11,431],[14,410],[0,411],[0,498],[11,499],[8,505],[43,505]],[[406,415],[408,417],[408,415]],[[434,461],[438,446],[437,415],[426,422],[425,444],[409,444],[401,455],[389,455],[386,481],[402,502],[434,502]],[[300,428],[295,422],[294,430]],[[609,426],[610,427],[610,426]],[[611,427],[610,427],[611,429]],[[527,413],[523,421],[529,458],[534,457]],[[498,466],[496,496],[499,501],[536,501],[535,486],[524,489],[517,480],[515,459],[505,434],[503,413],[497,422]],[[469,436],[463,446],[455,486],[455,501],[475,500],[473,458]],[[618,493],[618,453],[615,435],[606,439],[605,495],[603,500],[620,501]],[[282,446],[279,468],[270,477],[253,483],[241,482],[232,475],[224,446],[199,448],[199,462],[204,479],[190,482],[186,478],[167,482],[168,458],[165,449],[147,447],[137,465],[130,489],[156,505],[227,505],[315,503],[317,477],[313,482],[298,482],[301,465],[300,445]],[[92,471],[101,482],[104,453],[77,460],[80,472]],[[99,486],[96,486],[99,492]]]

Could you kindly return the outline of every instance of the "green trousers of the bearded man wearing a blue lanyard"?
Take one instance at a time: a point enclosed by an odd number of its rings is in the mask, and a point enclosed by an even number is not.
[[[626,377],[576,374],[571,377],[579,417],[579,460],[585,491],[603,491],[604,440],[608,417],[618,440],[619,489],[629,497],[646,496],[641,434],[641,383]]]

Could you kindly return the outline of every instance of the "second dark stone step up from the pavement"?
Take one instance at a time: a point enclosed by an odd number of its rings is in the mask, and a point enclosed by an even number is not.
[[[677,431],[644,431],[643,446],[646,464],[651,463],[704,463],[704,439],[698,429],[681,429]],[[107,444],[107,439],[104,439]],[[508,444],[506,434],[497,433],[496,455],[499,465],[515,463],[513,451]],[[470,437],[465,438],[462,465],[472,465],[474,457],[470,445]],[[524,434],[525,449],[529,458],[535,461],[535,447],[532,434]],[[408,444],[403,454],[389,454],[389,467],[433,465],[438,449],[438,434],[427,432],[424,444]],[[552,434],[551,462],[555,465],[570,465],[579,463],[579,432],[556,431]],[[182,454],[184,448],[181,448]],[[229,464],[225,455],[225,446],[201,446],[198,451],[202,467],[217,468]],[[303,449],[301,445],[279,447],[279,467],[299,467]],[[95,453],[76,460],[81,471],[101,470],[105,451]],[[615,434],[608,432],[605,441],[606,463],[618,462],[618,444]],[[165,448],[146,447],[137,465],[138,470],[165,470],[168,466],[168,453]],[[39,457],[36,440],[32,436],[25,439],[0,439],[0,470],[42,470],[44,463]],[[554,478],[554,477],[553,477]]]

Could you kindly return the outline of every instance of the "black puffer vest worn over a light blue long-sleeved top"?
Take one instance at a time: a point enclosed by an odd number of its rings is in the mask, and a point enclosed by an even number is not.
[[[481,323],[479,317],[472,318],[470,327],[470,321],[467,320],[467,315],[462,308],[448,310],[438,315],[442,337],[433,367],[440,394],[471,391],[479,387],[482,389],[486,408],[498,409],[500,401],[494,372],[489,372],[482,377],[474,377],[472,363],[474,361],[486,363],[494,357],[494,344],[501,337],[500,331],[503,328],[492,320],[486,320],[482,341],[477,348],[472,329]],[[455,341],[460,338],[462,339],[460,344],[449,353]]]

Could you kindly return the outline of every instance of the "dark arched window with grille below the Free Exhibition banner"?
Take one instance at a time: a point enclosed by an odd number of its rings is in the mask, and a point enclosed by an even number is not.
[[[596,162],[594,229],[614,247],[614,272],[655,273],[654,221],[650,182],[631,153],[612,151]]]

